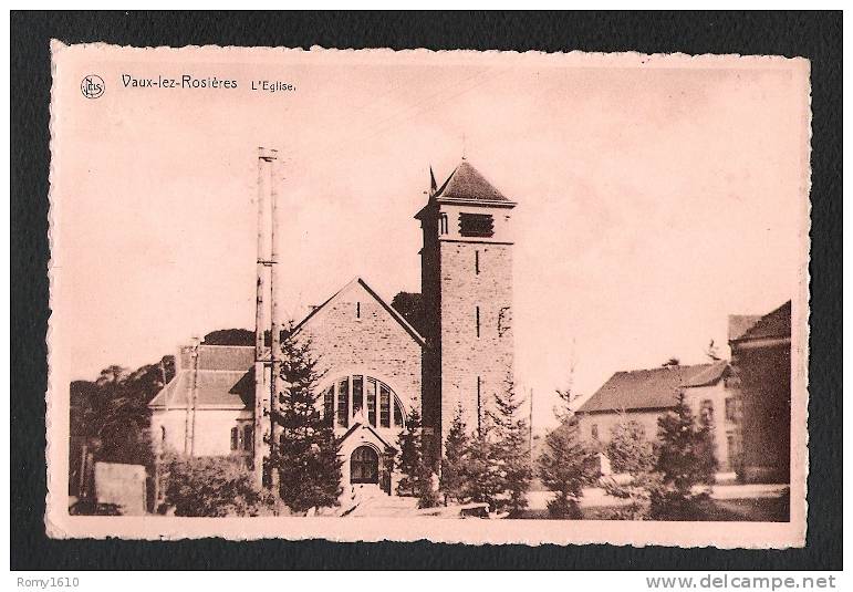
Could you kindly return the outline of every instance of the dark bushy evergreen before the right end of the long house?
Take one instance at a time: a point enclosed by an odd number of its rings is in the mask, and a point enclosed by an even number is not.
[[[662,487],[652,494],[652,517],[688,519],[707,492],[694,494],[697,485],[710,485],[717,470],[709,422],[697,422],[678,394],[675,408],[657,420],[659,449],[656,470]]]

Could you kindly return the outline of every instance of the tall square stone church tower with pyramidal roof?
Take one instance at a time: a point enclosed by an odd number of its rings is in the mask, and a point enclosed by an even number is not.
[[[477,430],[512,376],[516,204],[465,159],[441,187],[430,181],[427,205],[415,216],[424,231],[423,409],[424,425],[444,443],[459,406]]]

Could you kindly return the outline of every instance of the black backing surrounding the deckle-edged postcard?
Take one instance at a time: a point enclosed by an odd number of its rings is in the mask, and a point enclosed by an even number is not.
[[[809,531],[804,549],[527,548],[44,534],[51,38],[283,45],[801,55],[812,79]],[[11,12],[11,568],[842,569],[842,18],[838,12]],[[566,525],[571,528],[571,523]],[[699,527],[700,528],[700,527]],[[760,526],[756,526],[760,528]]]

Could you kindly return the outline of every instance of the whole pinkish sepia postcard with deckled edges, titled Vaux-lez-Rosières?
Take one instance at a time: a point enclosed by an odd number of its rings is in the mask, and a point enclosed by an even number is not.
[[[48,536],[804,544],[808,60],[51,59]]]

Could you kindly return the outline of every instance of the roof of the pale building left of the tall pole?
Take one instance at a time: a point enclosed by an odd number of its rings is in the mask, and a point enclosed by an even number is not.
[[[199,345],[198,371],[191,346],[181,346],[175,377],[148,403],[149,407],[184,408],[195,386],[198,408],[251,407],[254,401],[254,347]]]

